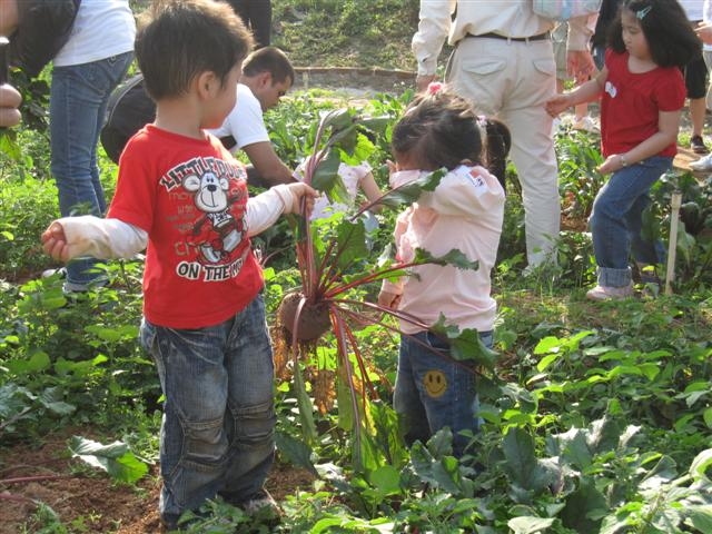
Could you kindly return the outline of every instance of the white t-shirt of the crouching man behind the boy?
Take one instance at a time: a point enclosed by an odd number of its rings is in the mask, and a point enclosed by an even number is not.
[[[263,108],[249,87],[237,85],[237,103],[227,116],[222,126],[208,130],[215,137],[233,136],[237,145],[233,154],[255,142],[269,142],[269,134],[265,127]]]

